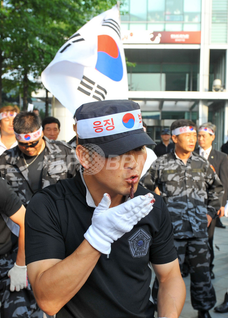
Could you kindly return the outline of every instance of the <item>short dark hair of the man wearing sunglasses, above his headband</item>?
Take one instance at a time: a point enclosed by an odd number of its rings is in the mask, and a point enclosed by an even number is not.
[[[33,112],[20,112],[13,121],[13,129],[17,134],[32,133],[38,130],[40,126],[41,118]]]

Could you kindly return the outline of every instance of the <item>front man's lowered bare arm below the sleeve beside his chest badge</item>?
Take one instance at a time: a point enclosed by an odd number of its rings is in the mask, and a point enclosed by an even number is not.
[[[181,277],[178,259],[152,266],[159,281],[158,317],[178,318],[186,297],[186,287]]]

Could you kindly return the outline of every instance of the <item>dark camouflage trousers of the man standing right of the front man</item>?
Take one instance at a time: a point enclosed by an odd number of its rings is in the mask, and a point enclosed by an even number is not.
[[[195,310],[210,310],[216,303],[215,290],[210,276],[210,251],[208,238],[174,239],[180,270],[185,257],[189,264],[191,279],[190,293],[192,307]],[[158,280],[155,278],[152,297],[157,304]]]

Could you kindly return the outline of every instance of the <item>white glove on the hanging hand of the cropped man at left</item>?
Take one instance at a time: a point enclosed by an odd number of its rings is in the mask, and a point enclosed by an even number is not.
[[[27,280],[27,266],[18,266],[14,263],[14,266],[9,270],[8,276],[10,277],[10,291],[19,292],[20,289],[28,286]]]

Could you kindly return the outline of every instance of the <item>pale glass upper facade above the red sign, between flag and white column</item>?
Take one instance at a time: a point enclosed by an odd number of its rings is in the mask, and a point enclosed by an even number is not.
[[[201,0],[126,0],[121,29],[200,31]]]

